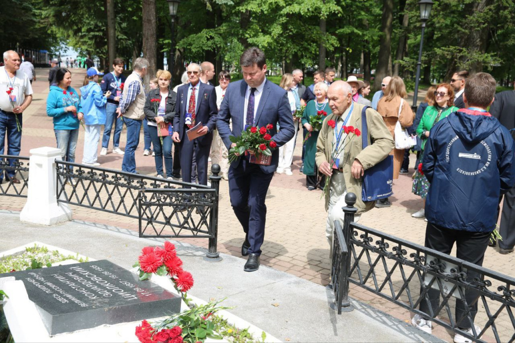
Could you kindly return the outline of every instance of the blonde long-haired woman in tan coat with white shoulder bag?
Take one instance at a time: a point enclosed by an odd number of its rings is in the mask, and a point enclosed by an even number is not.
[[[397,122],[401,123],[403,128],[413,124],[414,114],[405,101],[407,97],[406,87],[404,81],[399,76],[391,78],[385,89],[385,95],[379,100],[377,104],[377,112],[381,114],[388,130],[395,139],[395,126]],[[393,178],[399,178],[399,171],[404,157],[404,149],[393,148],[390,155],[393,155]],[[381,199],[376,202],[376,207],[389,207],[391,205],[388,198]]]

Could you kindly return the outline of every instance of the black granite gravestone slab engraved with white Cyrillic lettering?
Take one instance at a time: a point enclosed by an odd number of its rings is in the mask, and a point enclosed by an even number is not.
[[[181,298],[107,260],[0,274],[22,280],[50,335],[180,312]]]

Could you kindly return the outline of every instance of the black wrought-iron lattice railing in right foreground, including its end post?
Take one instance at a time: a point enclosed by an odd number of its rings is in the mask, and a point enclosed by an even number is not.
[[[353,283],[471,340],[515,341],[515,279],[358,225],[353,222],[355,195],[345,200],[344,227],[335,221],[333,243],[336,307],[352,311],[347,295]],[[346,277],[336,275],[338,268]],[[427,312],[419,308],[423,302]],[[479,330],[472,325],[472,333],[467,332],[470,323]]]

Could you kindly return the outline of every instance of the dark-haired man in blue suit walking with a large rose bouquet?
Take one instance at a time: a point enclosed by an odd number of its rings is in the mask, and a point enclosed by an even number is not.
[[[235,146],[230,136],[240,136],[248,126],[271,124],[272,141],[282,146],[293,138],[295,128],[286,91],[268,81],[265,54],[256,47],[245,50],[239,59],[243,80],[231,82],[218,111],[216,127],[228,149]],[[229,121],[232,119],[232,131]],[[277,132],[279,123],[281,131]],[[241,156],[229,167],[231,205],[245,231],[242,255],[249,255],[245,271],[258,270],[261,245],[265,238],[265,198],[273,172],[279,162],[279,150],[272,152],[270,165],[250,163]]]

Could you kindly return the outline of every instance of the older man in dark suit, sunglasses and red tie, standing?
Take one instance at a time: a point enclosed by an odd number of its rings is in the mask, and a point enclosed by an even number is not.
[[[172,139],[179,143],[182,181],[192,181],[192,160],[195,153],[198,183],[207,185],[209,151],[216,126],[216,92],[212,85],[200,82],[202,75],[200,65],[191,63],[186,73],[190,83],[181,85],[177,89],[176,112],[178,114],[174,117]],[[186,131],[198,123],[202,123],[198,133],[203,135],[190,141]]]

